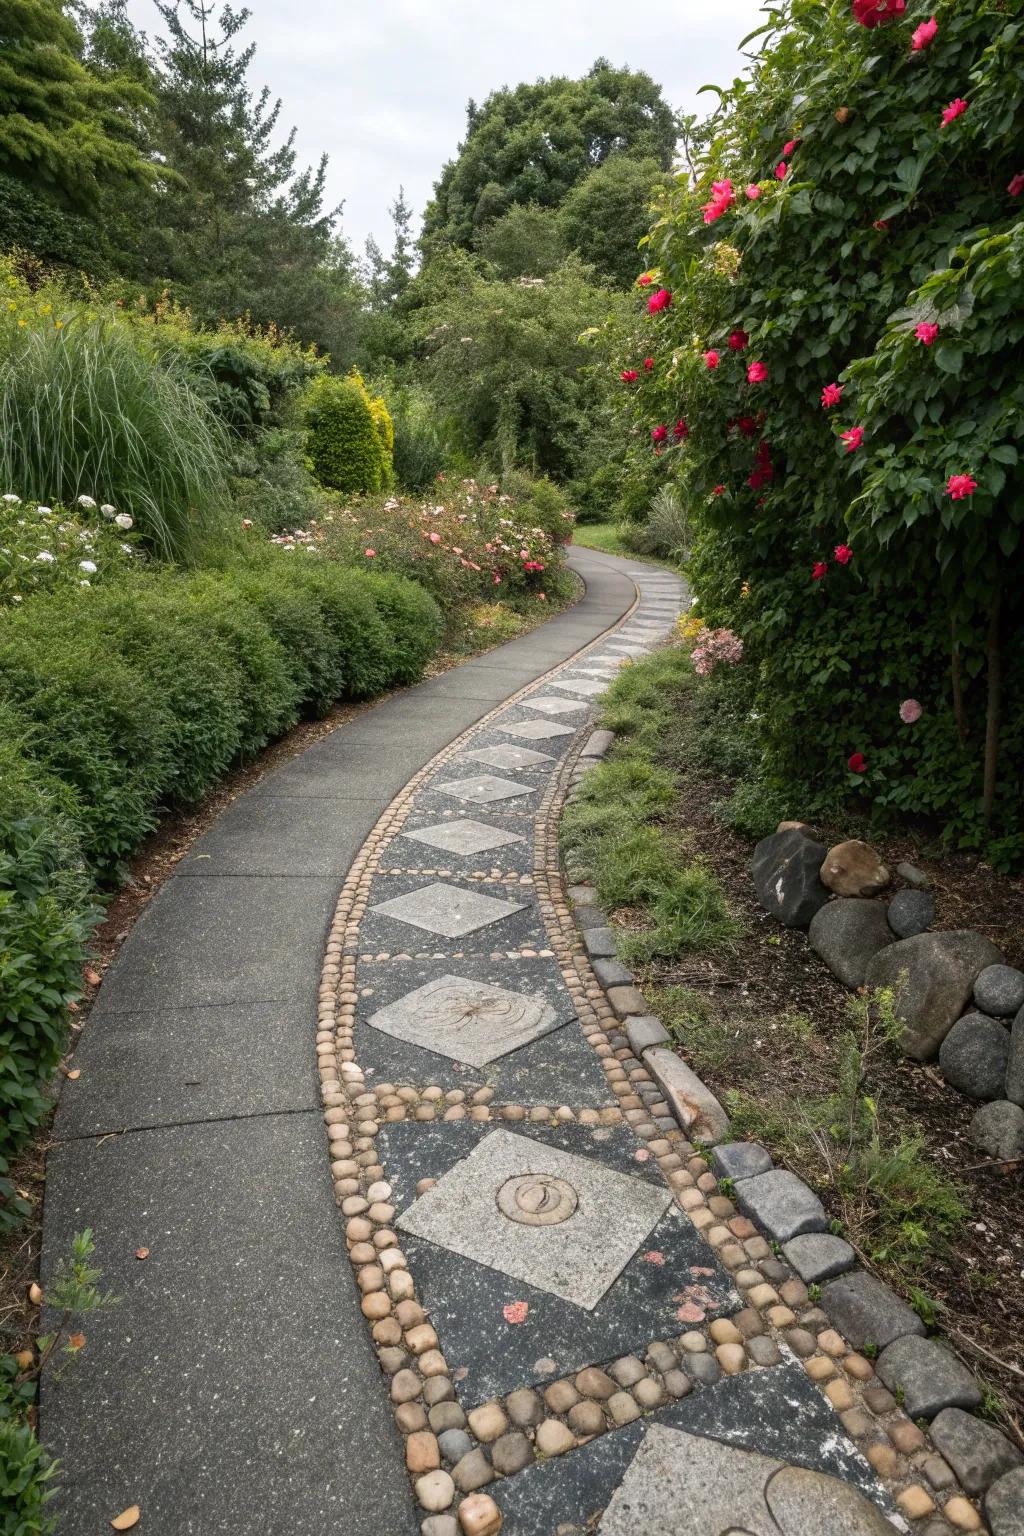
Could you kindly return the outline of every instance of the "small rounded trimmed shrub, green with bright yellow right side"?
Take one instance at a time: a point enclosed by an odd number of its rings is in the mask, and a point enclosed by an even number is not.
[[[391,418],[372,401],[353,369],[322,375],[306,393],[306,452],[321,485],[344,492],[384,490],[391,481]]]

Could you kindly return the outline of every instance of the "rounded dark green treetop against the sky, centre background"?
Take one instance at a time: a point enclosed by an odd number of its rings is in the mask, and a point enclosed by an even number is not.
[[[465,141],[427,206],[427,249],[468,249],[476,230],[516,203],[557,207],[609,155],[668,170],[676,147],[676,115],[660,86],[603,58],[582,80],[556,75],[496,91],[467,115]]]

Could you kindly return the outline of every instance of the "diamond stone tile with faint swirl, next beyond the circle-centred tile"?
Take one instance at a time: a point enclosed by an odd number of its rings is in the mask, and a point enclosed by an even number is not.
[[[385,1035],[476,1068],[547,1035],[557,1021],[543,997],[464,975],[434,977],[368,1018]]]

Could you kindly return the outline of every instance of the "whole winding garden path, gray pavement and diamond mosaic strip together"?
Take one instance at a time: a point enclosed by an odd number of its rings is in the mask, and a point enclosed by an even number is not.
[[[554,817],[683,591],[573,564],[576,608],[238,800],[107,972],[48,1172],[45,1275],[91,1226],[120,1298],[45,1384],[66,1536],[892,1530],[792,1356],[726,1369],[682,1132],[574,971]]]

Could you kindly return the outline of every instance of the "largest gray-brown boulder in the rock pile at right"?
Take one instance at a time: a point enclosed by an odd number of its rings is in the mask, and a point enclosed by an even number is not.
[[[864,986],[892,988],[904,1026],[903,1052],[927,1061],[961,1017],[978,975],[1001,960],[993,943],[969,929],[917,934],[881,949]]]

